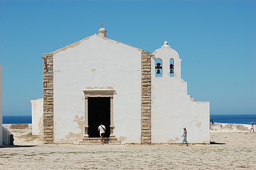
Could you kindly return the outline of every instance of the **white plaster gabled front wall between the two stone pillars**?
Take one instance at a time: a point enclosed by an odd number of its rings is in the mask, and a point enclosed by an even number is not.
[[[54,52],[54,142],[82,139],[84,89],[112,87],[115,135],[140,143],[141,52],[98,35]]]

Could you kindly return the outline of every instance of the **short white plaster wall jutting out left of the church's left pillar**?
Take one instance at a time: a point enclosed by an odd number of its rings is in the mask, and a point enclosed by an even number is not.
[[[43,99],[31,100],[32,135],[43,135]]]

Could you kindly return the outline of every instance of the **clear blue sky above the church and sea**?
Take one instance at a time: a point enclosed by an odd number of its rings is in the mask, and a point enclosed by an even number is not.
[[[256,1],[0,0],[3,115],[43,96],[43,53],[98,32],[152,53],[167,40],[211,114],[256,114]]]

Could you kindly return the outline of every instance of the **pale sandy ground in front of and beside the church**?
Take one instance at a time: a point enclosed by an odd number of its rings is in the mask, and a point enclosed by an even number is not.
[[[256,133],[211,131],[223,145],[43,145],[31,130],[11,129],[0,169],[256,169]],[[189,134],[188,134],[189,141]]]

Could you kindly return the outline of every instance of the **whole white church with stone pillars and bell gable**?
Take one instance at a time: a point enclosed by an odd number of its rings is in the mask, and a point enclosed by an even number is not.
[[[105,28],[43,57],[33,134],[45,143],[209,144],[209,102],[195,101],[167,41],[153,53],[107,38]],[[200,82],[198,82],[200,83]]]

